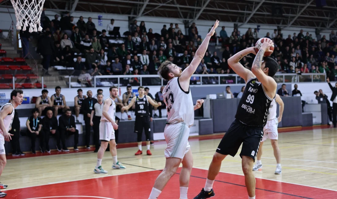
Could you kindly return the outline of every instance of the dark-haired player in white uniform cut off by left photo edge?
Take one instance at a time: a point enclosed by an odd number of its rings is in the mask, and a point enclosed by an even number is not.
[[[23,101],[23,91],[15,89],[10,93],[10,100],[0,108],[0,176],[6,165],[5,140],[9,142],[13,136],[8,133],[14,119],[14,109],[21,105]],[[0,189],[7,188],[7,185],[0,184]],[[0,197],[5,197],[7,194],[0,191]]]

